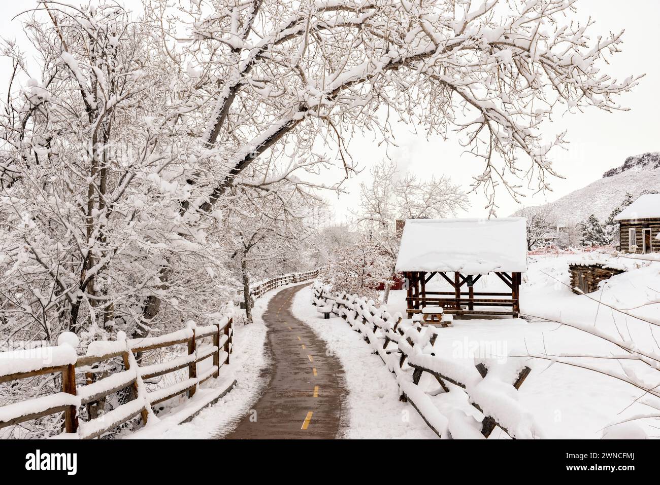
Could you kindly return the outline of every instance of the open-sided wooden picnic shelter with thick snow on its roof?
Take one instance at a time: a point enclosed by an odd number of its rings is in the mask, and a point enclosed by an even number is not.
[[[521,274],[527,270],[526,231],[523,217],[407,220],[396,270],[408,281],[408,318],[430,305],[447,314],[517,318]],[[508,291],[475,291],[488,273]],[[427,290],[433,277],[444,279],[452,291]]]

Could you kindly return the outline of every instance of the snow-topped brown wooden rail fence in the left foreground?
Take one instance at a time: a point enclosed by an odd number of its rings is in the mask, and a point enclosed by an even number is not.
[[[193,397],[199,384],[218,377],[222,365],[229,363],[232,353],[232,312],[230,310],[225,316],[213,320],[211,325],[195,326],[189,322],[185,329],[158,337],[126,339],[125,334],[119,332],[116,341],[90,342],[86,355],[82,356],[77,355],[75,349],[78,339],[70,332],[60,335],[57,346],[0,353],[0,384],[57,373],[61,374],[62,382],[59,393],[0,407],[0,428],[63,412],[65,432],[77,433],[79,438],[88,439],[101,436],[138,414],[146,423],[149,416],[154,416],[154,405],[183,393],[187,393],[188,398]],[[204,339],[212,341],[199,345]],[[137,364],[136,353],[182,344],[187,345],[187,355],[183,357],[147,366]],[[121,358],[124,370],[95,380],[94,371],[98,370],[95,367],[100,362],[114,358]],[[197,364],[209,358],[213,358],[213,364],[198,375]],[[144,380],[183,368],[188,369],[187,379],[162,389],[147,391]],[[77,371],[84,373],[86,385],[78,384]],[[205,405],[224,396],[234,384],[236,380],[223,389],[216,389],[217,395]],[[131,389],[131,401],[98,415],[108,395],[127,387]],[[83,405],[93,412],[88,413],[89,420],[79,422],[78,409]]]

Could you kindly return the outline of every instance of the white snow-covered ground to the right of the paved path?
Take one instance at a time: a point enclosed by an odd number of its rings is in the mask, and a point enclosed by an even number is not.
[[[622,314],[572,293],[568,287],[568,260],[572,259],[575,256],[530,258],[521,287],[521,305],[523,314],[535,317],[455,320],[453,328],[441,330],[442,338],[438,338],[434,348],[458,358],[473,358],[475,351],[490,357],[549,355],[554,360],[608,370],[647,387],[659,385],[659,373],[638,360],[583,357],[622,355],[622,351],[594,335],[542,318],[583,326],[620,341],[634,341],[642,351],[659,353],[655,337],[658,332],[652,332],[652,326],[634,316],[655,320],[660,316],[660,304],[644,305],[649,300],[660,301],[660,262],[616,275],[600,291],[590,295],[616,308],[629,309],[629,314]],[[434,281],[427,286],[429,289],[434,287]],[[438,289],[443,287],[442,281],[436,285]],[[499,285],[502,283],[494,277],[482,277],[477,287],[498,291]],[[371,355],[361,336],[340,318],[322,320],[310,304],[310,291],[304,289],[298,293],[294,312],[329,343],[329,349],[345,367],[350,393],[345,436],[423,436],[425,425],[420,424],[409,405],[399,403],[395,380],[380,358]],[[403,312],[404,298],[404,291],[392,292],[387,310],[391,314]],[[540,358],[529,357],[527,365],[532,372],[520,388],[519,399],[533,413],[546,438],[601,438],[603,432],[612,429],[612,424],[654,411],[644,404],[648,399],[644,391],[611,376]],[[405,409],[411,411],[407,423],[401,422]],[[647,435],[656,434],[653,420],[635,422]],[[506,435],[494,432],[491,438],[498,437]]]

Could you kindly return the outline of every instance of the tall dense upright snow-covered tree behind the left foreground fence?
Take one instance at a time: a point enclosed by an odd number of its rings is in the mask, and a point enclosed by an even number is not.
[[[162,302],[164,326],[201,318],[224,304],[226,250],[207,239],[215,218],[182,220],[185,168],[171,128],[154,121],[170,86],[151,29],[116,5],[51,7],[25,22],[40,72],[5,46],[3,312],[26,339],[142,335]]]

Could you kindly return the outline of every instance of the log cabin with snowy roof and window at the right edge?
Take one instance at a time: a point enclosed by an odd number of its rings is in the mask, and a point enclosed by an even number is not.
[[[645,254],[660,251],[660,194],[644,194],[614,217],[620,250]]]

